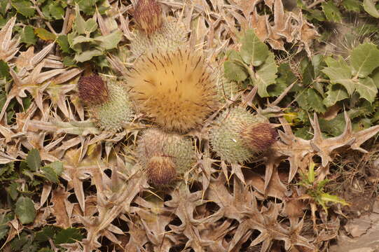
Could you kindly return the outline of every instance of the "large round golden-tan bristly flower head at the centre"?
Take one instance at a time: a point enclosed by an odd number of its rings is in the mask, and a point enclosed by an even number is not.
[[[142,56],[127,83],[137,107],[168,131],[202,125],[218,104],[213,69],[189,49]]]

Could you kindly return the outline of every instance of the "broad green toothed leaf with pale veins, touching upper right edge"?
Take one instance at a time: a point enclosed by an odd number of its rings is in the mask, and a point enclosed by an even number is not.
[[[365,78],[379,66],[379,50],[373,43],[364,43],[358,45],[352,50],[350,55],[350,64],[353,69],[353,75],[359,78]]]

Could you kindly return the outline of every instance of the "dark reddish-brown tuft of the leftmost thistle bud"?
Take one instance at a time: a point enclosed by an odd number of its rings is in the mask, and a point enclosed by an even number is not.
[[[78,81],[79,98],[86,104],[103,104],[108,100],[106,83],[100,76],[82,76]]]

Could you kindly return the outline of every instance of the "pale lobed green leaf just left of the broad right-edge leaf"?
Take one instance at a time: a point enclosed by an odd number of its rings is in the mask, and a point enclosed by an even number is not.
[[[343,85],[350,95],[354,92],[355,84],[352,80],[352,71],[349,66],[329,66],[322,69],[322,72],[330,78],[332,84]]]

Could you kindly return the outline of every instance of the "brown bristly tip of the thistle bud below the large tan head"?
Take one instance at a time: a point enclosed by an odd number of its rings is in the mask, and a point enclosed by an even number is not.
[[[165,156],[154,156],[150,158],[146,174],[151,183],[156,186],[165,186],[175,179],[177,170],[171,159],[172,158]]]

